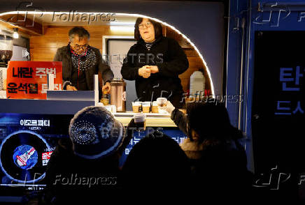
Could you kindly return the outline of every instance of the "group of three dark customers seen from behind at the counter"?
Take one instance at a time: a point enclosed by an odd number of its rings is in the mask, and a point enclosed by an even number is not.
[[[136,132],[130,128],[139,128],[139,124],[132,119],[125,131],[111,139],[107,138],[107,133],[113,134],[109,128],[122,128],[111,113],[102,107],[80,110],[71,120],[70,139],[60,139],[52,153],[39,203],[255,200],[243,133],[231,125],[222,103],[188,103],[185,114],[173,109],[171,119],[187,135],[182,144],[162,132],[152,132],[134,145],[119,167],[120,156]],[[101,125],[108,129],[106,137]],[[100,181],[89,187],[86,179]]]

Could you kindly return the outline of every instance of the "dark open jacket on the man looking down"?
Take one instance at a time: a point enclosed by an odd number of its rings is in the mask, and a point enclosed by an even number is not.
[[[101,73],[104,84],[111,79],[113,79],[113,72],[111,68],[104,62],[101,52],[95,47],[90,47],[92,51],[94,51],[95,56],[97,58],[94,66],[85,70],[87,88],[90,91],[93,91],[94,88],[94,75],[97,75],[99,72]],[[72,60],[71,60],[71,51],[70,45],[60,47],[57,49],[53,61],[62,61],[62,87],[65,89],[67,84],[71,84],[71,75],[72,75]]]

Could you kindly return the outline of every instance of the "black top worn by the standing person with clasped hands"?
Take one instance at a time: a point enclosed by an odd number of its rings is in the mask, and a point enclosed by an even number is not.
[[[148,78],[139,76],[139,68],[146,65],[157,66],[159,73],[152,73]],[[147,50],[143,39],[133,45],[124,60],[121,74],[124,79],[136,80],[136,96],[141,101],[155,100],[161,94],[169,100],[175,96],[179,100],[183,96],[183,88],[178,75],[184,73],[188,66],[187,56],[176,40],[162,36],[155,40],[150,50]]]

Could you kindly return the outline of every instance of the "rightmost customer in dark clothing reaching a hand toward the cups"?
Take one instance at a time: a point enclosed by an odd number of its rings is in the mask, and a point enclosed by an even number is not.
[[[243,133],[229,122],[223,103],[190,102],[186,114],[167,102],[166,111],[185,132],[180,147],[190,160],[194,192],[213,202],[253,199],[253,174],[247,169]]]

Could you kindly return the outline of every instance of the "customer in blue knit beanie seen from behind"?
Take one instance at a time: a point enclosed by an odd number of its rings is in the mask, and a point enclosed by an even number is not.
[[[69,138],[60,139],[51,155],[40,204],[118,202],[119,158],[131,138],[104,107],[81,109],[71,119]]]

